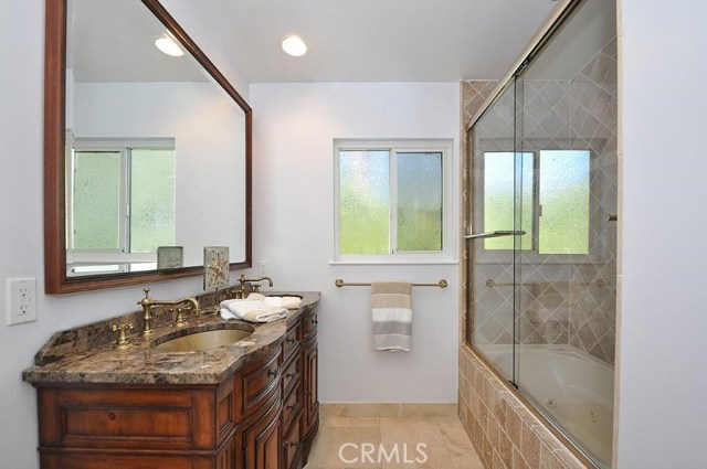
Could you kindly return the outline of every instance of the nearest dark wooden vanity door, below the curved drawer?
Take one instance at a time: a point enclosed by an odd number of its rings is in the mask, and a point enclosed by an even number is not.
[[[279,469],[279,394],[267,412],[242,430],[243,469]]]

